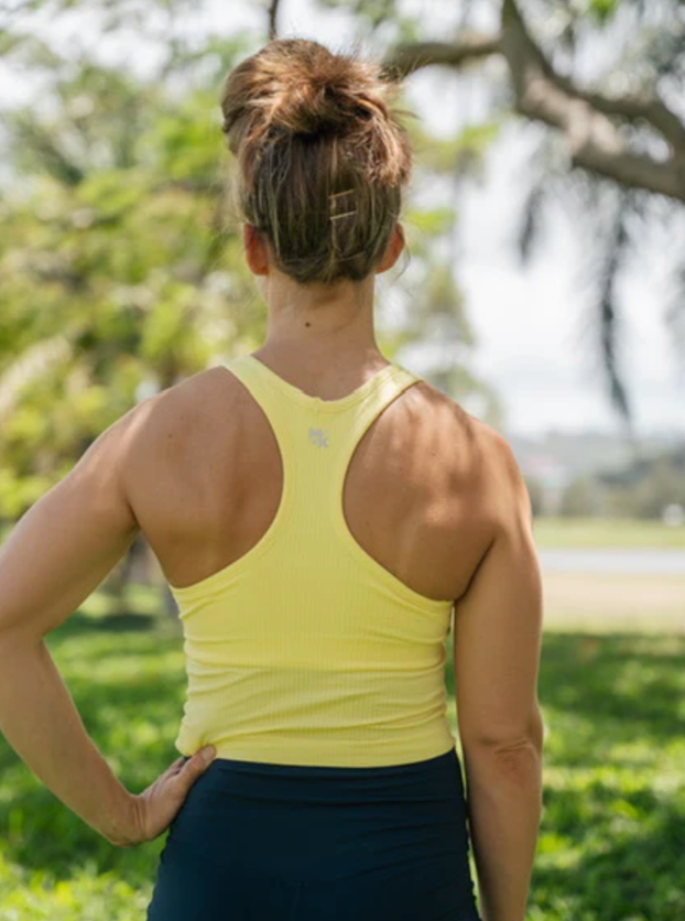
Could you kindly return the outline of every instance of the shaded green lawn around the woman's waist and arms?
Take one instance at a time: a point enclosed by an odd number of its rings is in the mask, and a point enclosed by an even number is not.
[[[182,638],[104,593],[48,635],[86,727],[139,792],[177,757]],[[170,629],[171,628],[171,629]],[[449,716],[455,729],[448,646]],[[685,637],[545,632],[544,811],[529,921],[685,918]],[[456,734],[456,733],[455,733]],[[142,921],[164,836],[111,847],[0,739],[2,921]]]

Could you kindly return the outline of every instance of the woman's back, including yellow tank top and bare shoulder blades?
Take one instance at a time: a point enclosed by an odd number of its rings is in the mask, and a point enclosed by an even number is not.
[[[427,384],[396,364],[326,401],[252,355],[227,366],[204,399],[205,381],[187,388],[186,412],[156,433],[148,420],[127,465],[127,492],[167,575],[165,546],[186,572],[195,566],[191,582],[168,576],[189,679],[176,747],[331,767],[444,755],[455,741],[444,644],[463,592],[450,557],[477,553],[475,529],[481,555],[488,539],[471,440],[461,434],[455,451],[457,414],[439,418],[449,408],[432,388],[433,409],[426,396],[402,402]],[[227,377],[242,394],[221,394]],[[471,535],[470,549],[454,533]],[[217,561],[209,572],[197,546]]]

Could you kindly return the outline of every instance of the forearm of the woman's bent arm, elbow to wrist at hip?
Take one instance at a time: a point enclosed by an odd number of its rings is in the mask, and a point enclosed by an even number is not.
[[[0,635],[0,730],[84,822],[112,844],[126,841],[134,798],[88,736],[43,640]]]

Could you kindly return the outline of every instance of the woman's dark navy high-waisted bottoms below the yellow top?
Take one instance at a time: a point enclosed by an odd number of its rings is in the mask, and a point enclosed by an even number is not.
[[[453,748],[333,768],[215,758],[168,827],[146,921],[481,921]]]

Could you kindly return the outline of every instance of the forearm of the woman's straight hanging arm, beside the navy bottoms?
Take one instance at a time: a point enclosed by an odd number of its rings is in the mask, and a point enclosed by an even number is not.
[[[524,921],[542,814],[540,750],[465,750],[464,760],[482,921]]]

